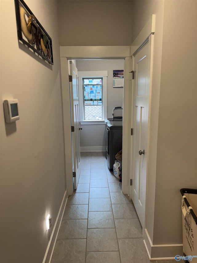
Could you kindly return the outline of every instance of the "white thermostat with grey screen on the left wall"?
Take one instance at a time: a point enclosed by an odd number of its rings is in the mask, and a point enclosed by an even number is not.
[[[18,100],[11,99],[3,101],[5,120],[7,123],[20,119],[18,112]]]

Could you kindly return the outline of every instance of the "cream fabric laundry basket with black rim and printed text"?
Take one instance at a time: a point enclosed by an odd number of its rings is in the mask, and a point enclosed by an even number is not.
[[[183,253],[187,261],[197,262],[197,189],[180,190],[182,194]]]

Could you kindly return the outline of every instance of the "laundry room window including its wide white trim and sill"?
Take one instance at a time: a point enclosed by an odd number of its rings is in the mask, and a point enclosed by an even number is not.
[[[107,118],[107,71],[78,71],[81,124],[103,124]]]

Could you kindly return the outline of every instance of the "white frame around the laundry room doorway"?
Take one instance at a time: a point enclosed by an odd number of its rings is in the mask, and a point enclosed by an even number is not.
[[[62,46],[60,47],[63,127],[65,138],[66,187],[68,195],[73,194],[72,143],[70,121],[70,93],[68,63],[72,59],[125,59],[123,89],[123,181],[122,191],[128,194],[131,172],[131,46]],[[129,114],[128,114],[129,113]]]

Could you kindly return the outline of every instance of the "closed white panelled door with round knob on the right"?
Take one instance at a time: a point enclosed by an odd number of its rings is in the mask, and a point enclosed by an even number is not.
[[[134,56],[132,201],[144,231],[150,89],[149,43]]]

